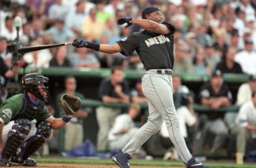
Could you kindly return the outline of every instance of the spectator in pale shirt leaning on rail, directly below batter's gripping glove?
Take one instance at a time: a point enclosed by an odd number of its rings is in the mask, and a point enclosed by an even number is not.
[[[100,68],[100,62],[88,48],[76,48],[76,52],[69,55],[69,61],[74,68]]]

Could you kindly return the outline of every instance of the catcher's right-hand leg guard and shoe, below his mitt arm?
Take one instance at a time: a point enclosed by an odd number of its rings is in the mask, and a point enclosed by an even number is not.
[[[44,121],[36,123],[36,128],[36,135],[30,137],[23,145],[21,145],[19,153],[17,152],[11,158],[12,163],[36,166],[36,161],[28,157],[44,144],[45,140],[50,137],[52,131],[51,124]]]

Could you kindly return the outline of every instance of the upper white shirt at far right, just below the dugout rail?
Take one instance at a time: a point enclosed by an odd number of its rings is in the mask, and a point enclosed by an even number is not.
[[[252,90],[248,83],[243,83],[237,92],[237,102],[238,106],[241,106],[243,103],[252,99]]]

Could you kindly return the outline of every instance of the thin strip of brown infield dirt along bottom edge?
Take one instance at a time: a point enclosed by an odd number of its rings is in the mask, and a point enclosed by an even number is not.
[[[12,167],[23,167],[31,168],[28,166],[12,166]],[[95,165],[95,164],[60,164],[60,163],[38,163],[37,167],[54,167],[54,168],[118,168],[116,165]],[[163,166],[131,166],[131,168],[166,168]],[[181,167],[168,167],[168,168],[181,168]]]

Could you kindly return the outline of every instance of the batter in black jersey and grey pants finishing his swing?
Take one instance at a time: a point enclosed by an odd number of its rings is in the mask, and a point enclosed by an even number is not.
[[[162,122],[166,122],[170,139],[182,161],[187,167],[204,167],[196,162],[189,153],[185,140],[181,135],[179,121],[172,97],[172,68],[173,68],[173,43],[175,28],[166,22],[162,22],[162,12],[157,7],[147,7],[142,11],[142,19],[120,18],[118,24],[127,24],[126,27],[136,24],[143,29],[135,32],[127,38],[117,41],[114,45],[91,43],[83,39],[75,39],[73,46],[92,48],[103,53],[121,52],[129,56],[137,51],[140,60],[146,69],[142,78],[142,90],[148,99],[149,116],[145,123],[135,133],[128,144],[115,156],[113,161],[122,168],[130,167],[130,156],[139,149],[154,133],[161,128]],[[82,41],[82,43],[81,43]]]

